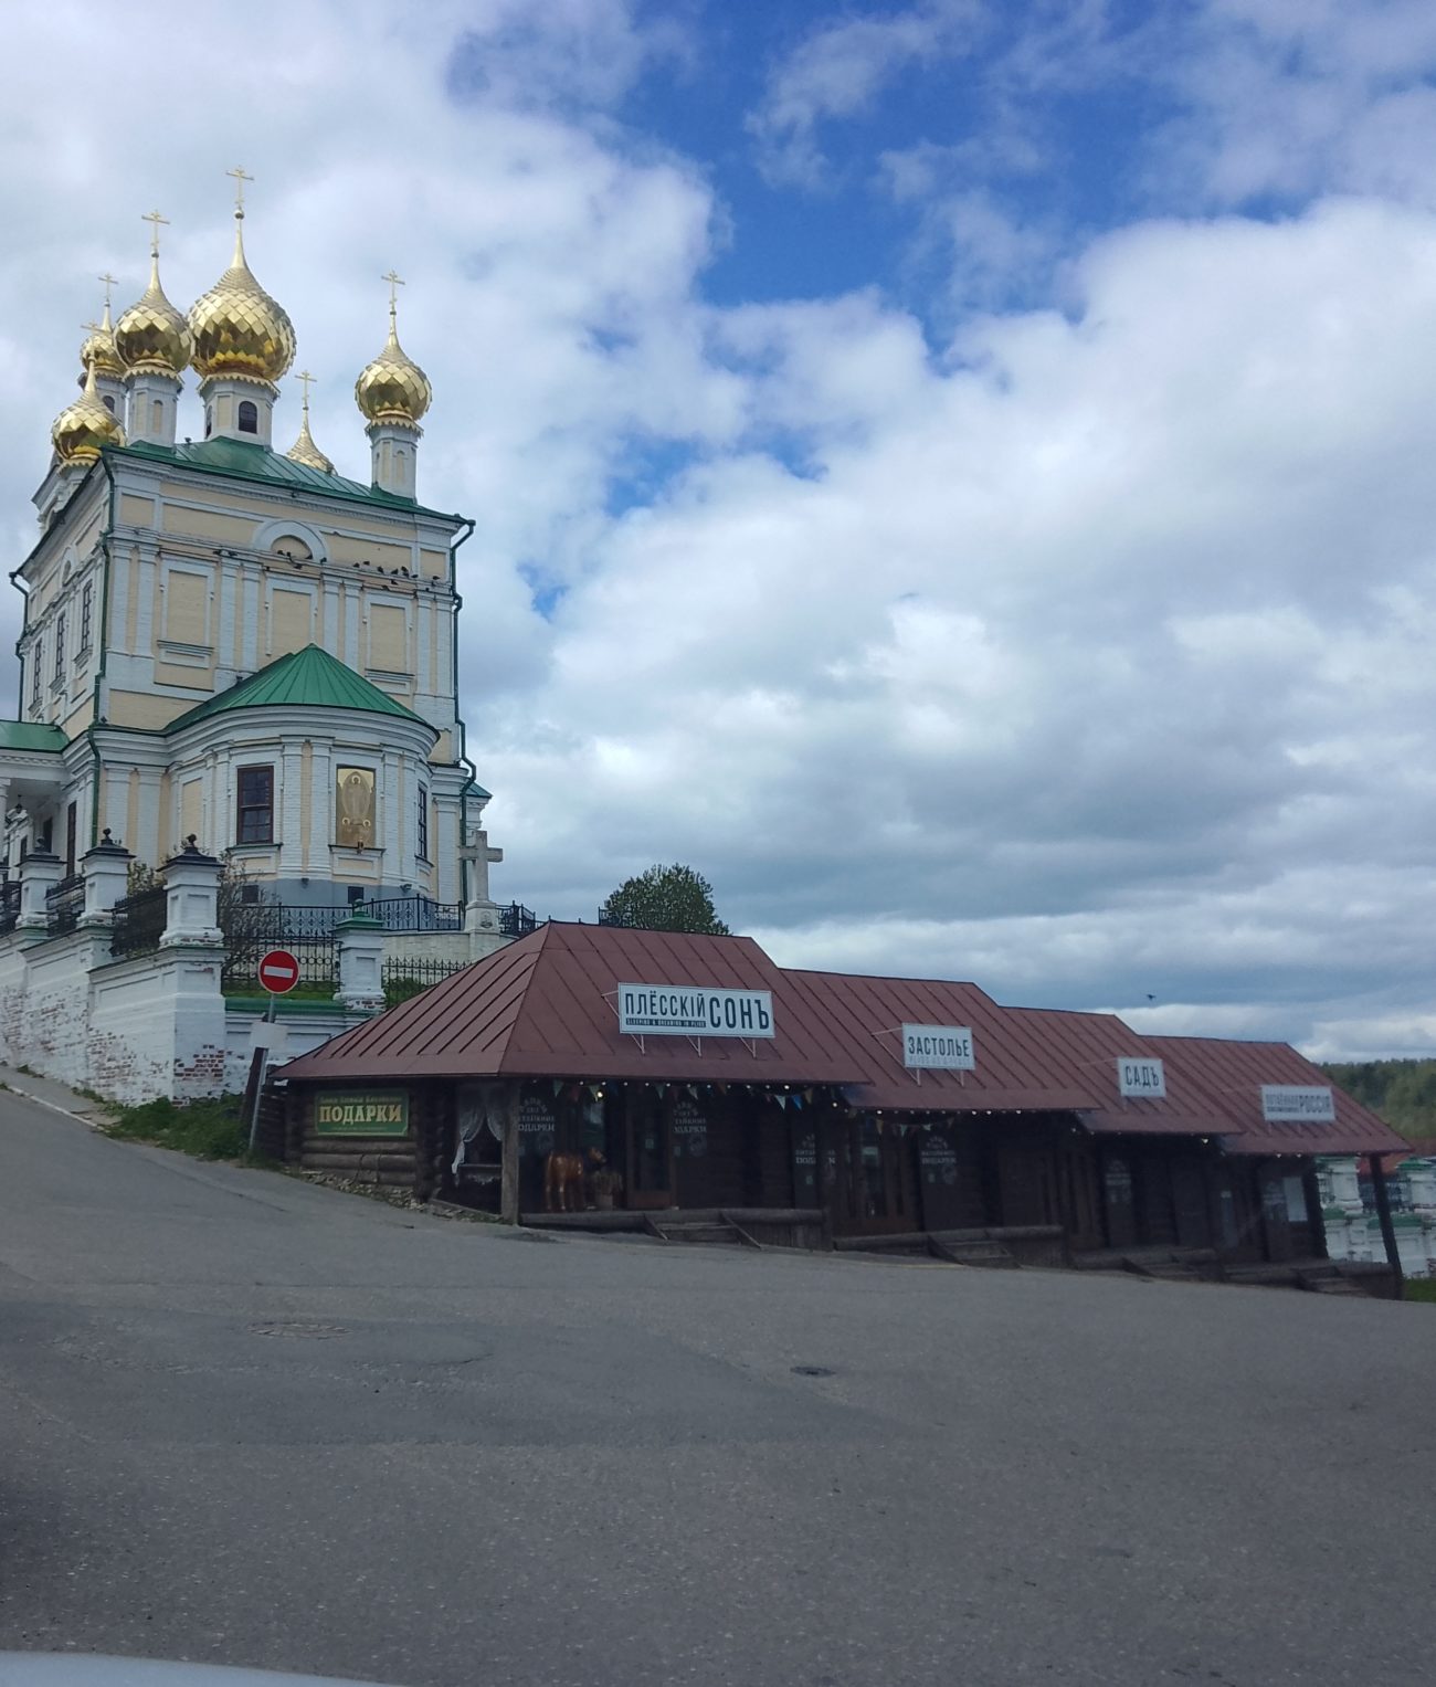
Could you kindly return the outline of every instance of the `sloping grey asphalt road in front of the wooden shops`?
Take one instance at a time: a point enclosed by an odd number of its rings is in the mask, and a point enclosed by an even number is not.
[[[1429,1682],[1433,1380],[1431,1306],[540,1240],[0,1095],[0,1650]]]

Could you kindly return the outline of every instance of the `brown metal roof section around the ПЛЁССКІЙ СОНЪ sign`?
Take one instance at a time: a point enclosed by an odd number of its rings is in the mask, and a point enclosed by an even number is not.
[[[771,990],[771,1041],[621,1036],[619,984]],[[862,1068],[753,938],[550,923],[283,1068],[285,1078],[854,1083]]]

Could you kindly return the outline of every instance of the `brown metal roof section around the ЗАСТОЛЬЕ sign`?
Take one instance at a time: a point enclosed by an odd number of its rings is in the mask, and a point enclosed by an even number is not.
[[[1066,1112],[1095,1105],[1082,1070],[975,984],[788,972],[862,1066],[852,1100],[896,1112]],[[910,1071],[904,1024],[967,1026],[975,1071]]]

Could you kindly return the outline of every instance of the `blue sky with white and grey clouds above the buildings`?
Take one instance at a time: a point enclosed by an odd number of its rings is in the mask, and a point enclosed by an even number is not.
[[[7,569],[94,277],[157,206],[187,307],[241,164],[361,479],[408,283],[496,896],[680,860],[788,965],[1433,1053],[1431,0],[5,27]]]

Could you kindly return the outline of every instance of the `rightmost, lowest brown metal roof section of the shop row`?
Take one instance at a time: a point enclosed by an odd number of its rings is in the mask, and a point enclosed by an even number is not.
[[[1375,1113],[1353,1102],[1331,1080],[1298,1054],[1289,1043],[1235,1043],[1225,1038],[1142,1038],[1173,1075],[1191,1078],[1212,1097],[1225,1124],[1222,1147],[1228,1154],[1385,1154],[1406,1144]],[[1289,1083],[1330,1088],[1336,1122],[1301,1120],[1269,1124],[1262,1118],[1262,1085]]]

